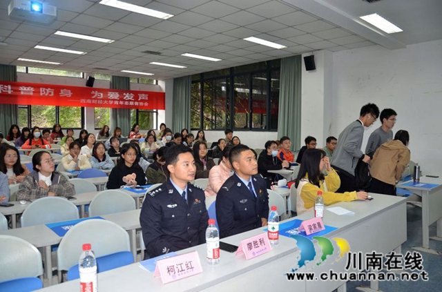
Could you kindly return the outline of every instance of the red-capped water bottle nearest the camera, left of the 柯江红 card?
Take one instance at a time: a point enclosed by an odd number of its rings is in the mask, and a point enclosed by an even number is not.
[[[78,269],[80,292],[97,292],[97,260],[93,251],[90,250],[90,244],[83,244]]]

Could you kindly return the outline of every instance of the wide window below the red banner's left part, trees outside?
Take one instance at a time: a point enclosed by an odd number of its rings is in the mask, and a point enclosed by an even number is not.
[[[19,106],[19,126],[84,128],[84,108],[73,106]]]

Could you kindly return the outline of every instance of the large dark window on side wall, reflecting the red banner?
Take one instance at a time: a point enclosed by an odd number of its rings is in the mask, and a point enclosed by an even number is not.
[[[192,76],[191,128],[277,130],[280,59]]]

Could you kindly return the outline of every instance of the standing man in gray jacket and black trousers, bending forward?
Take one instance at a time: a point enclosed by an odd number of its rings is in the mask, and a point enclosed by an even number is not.
[[[371,126],[379,116],[379,108],[376,104],[366,104],[361,108],[359,119],[349,124],[340,133],[338,145],[332,157],[332,167],[338,172],[340,177],[340,188],[336,193],[356,191],[356,180],[354,169],[358,160],[363,158],[363,162],[368,163],[370,157],[362,150],[362,140],[364,137],[364,126]]]

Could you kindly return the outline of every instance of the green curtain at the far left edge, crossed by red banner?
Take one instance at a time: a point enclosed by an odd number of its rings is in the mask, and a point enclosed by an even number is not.
[[[17,81],[17,67],[0,64],[0,81]],[[16,104],[0,104],[0,132],[8,135],[12,124],[19,122],[19,106]]]

